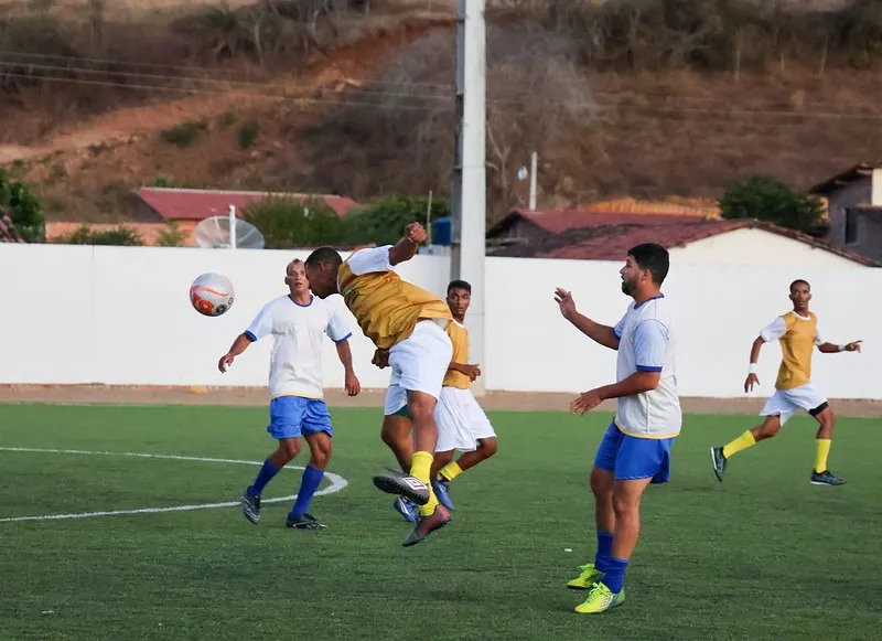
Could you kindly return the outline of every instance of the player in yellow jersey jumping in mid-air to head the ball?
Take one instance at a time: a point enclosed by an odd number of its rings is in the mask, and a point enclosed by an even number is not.
[[[385,415],[406,407],[413,420],[409,472],[374,477],[374,484],[384,492],[420,505],[405,546],[419,543],[450,521],[450,512],[432,491],[430,470],[438,444],[433,414],[453,353],[444,330],[453,317],[443,300],[395,273],[395,266],[410,260],[426,237],[422,225],[411,223],[395,245],[359,249],[346,260],[335,249],[320,247],[306,259],[313,293],[319,298],[341,293],[365,335],[377,350],[388,350],[392,372]]]

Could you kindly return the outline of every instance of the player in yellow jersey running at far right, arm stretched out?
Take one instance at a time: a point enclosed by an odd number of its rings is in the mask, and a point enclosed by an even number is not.
[[[744,382],[744,392],[749,392],[753,389],[754,385],[760,384],[760,380],[756,377],[756,362],[763,343],[777,340],[781,342],[782,361],[775,382],[775,393],[760,413],[760,416],[765,417],[760,427],[745,431],[724,447],[711,448],[713,473],[717,474],[720,482],[723,480],[727,463],[733,455],[775,436],[781,426],[799,409],[808,412],[820,424],[815,437],[817,445],[815,468],[809,479],[811,484],[842,485],[846,482],[827,468],[827,456],[830,452],[830,439],[836,417],[827,398],[811,384],[811,353],[815,345],[825,354],[860,352],[861,341],[843,345],[824,341],[818,332],[818,318],[808,311],[809,300],[811,300],[811,288],[808,282],[794,280],[790,284],[793,311],[776,318],[753,341],[750,373]]]

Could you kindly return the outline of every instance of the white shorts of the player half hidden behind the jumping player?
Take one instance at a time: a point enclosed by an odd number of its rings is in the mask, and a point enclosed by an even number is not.
[[[471,389],[441,389],[441,398],[434,408],[434,420],[438,424],[438,445],[434,448],[437,452],[474,450],[477,449],[478,439],[496,436]]]

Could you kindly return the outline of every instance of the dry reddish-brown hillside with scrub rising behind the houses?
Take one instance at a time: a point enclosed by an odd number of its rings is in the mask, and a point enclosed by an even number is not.
[[[66,66],[43,65],[63,71],[36,75],[35,58],[8,53],[15,23],[7,14],[0,65],[13,99],[2,109],[11,126],[0,162],[44,197],[49,220],[130,220],[128,192],[141,184],[321,191],[356,200],[389,191],[444,194],[453,145],[454,23],[449,7],[438,12],[443,4],[435,2],[428,14],[428,2],[375,0],[369,13],[316,15],[318,29],[302,49],[289,46],[286,34],[294,32],[286,30],[301,29],[303,21],[273,14],[278,29],[267,33],[276,40],[265,40],[260,55],[240,32],[224,32],[227,40],[218,44],[198,30],[181,31],[205,24],[196,14],[165,17],[154,24],[175,24],[176,44],[158,60],[132,57],[151,50],[143,42],[140,53],[133,41],[126,42],[129,49],[110,42],[132,33],[132,18],[103,29],[101,46],[114,63],[68,46],[67,54],[53,54]],[[527,185],[515,174],[533,150],[546,206],[614,195],[716,197],[751,173],[805,188],[882,158],[882,89],[871,46],[882,34],[882,18],[879,34],[868,35],[867,25],[875,23],[861,14],[863,41],[837,18],[839,31],[830,31],[821,49],[799,40],[799,29],[816,33],[827,14],[811,14],[815,22],[800,18],[805,24],[779,22],[775,29],[786,24],[790,32],[785,38],[775,31],[773,46],[763,40],[771,38],[772,22],[765,31],[739,26],[729,38],[702,31],[693,17],[671,22],[665,14],[668,31],[681,23],[677,29],[698,35],[663,43],[644,38],[656,33],[649,31],[654,23],[626,12],[579,22],[562,11],[551,20],[536,7],[488,13],[492,217],[526,201]],[[626,19],[643,30],[641,39],[617,35],[627,32]],[[606,39],[602,51],[599,32],[589,29],[598,25]],[[174,51],[189,52],[186,64],[170,62]],[[220,53],[205,54],[215,51]],[[86,58],[105,61],[105,67]],[[25,62],[31,75],[17,83]]]

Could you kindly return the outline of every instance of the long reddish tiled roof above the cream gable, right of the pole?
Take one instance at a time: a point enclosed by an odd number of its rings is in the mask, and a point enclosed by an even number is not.
[[[560,226],[562,224],[560,221],[566,218],[555,220],[556,224]],[[639,243],[658,243],[665,248],[671,249],[735,229],[757,228],[806,243],[860,265],[882,266],[871,258],[846,252],[808,234],[749,218],[718,221],[696,216],[604,214],[596,217],[583,217],[581,223],[582,225],[579,227],[564,227],[563,232],[550,234],[529,244],[512,245],[494,255],[576,260],[621,260],[631,247]]]

